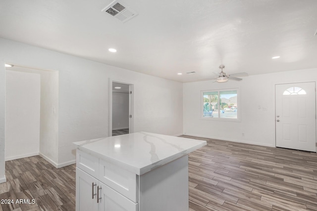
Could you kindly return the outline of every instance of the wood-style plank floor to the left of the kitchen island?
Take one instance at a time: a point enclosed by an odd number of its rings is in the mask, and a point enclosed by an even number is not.
[[[0,200],[13,201],[3,202],[0,211],[75,211],[75,165],[56,169],[40,156],[33,156],[6,161],[5,176]],[[16,203],[21,199],[26,201]]]

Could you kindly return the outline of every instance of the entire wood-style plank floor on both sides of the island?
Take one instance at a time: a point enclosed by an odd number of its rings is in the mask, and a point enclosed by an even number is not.
[[[317,211],[317,153],[207,140],[189,155],[190,211]],[[75,165],[40,156],[5,162],[0,211],[74,211]],[[35,203],[32,204],[32,199]]]

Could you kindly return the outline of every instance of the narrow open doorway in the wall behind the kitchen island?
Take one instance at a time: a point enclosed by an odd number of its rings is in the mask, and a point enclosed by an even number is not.
[[[132,121],[132,88],[133,84],[110,81],[111,96],[109,136],[128,134],[133,131]]]

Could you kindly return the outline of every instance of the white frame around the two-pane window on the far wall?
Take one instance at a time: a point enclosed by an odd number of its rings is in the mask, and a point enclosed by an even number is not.
[[[204,92],[218,92],[218,99],[220,91],[237,91],[237,119],[233,118],[224,118],[220,117],[220,113],[218,114],[219,117],[204,117]],[[201,119],[203,120],[211,120],[211,121],[228,121],[228,122],[241,122],[241,103],[240,103],[240,88],[225,88],[225,89],[207,89],[201,91],[200,97],[200,107],[201,107]],[[219,101],[218,101],[219,102]],[[220,111],[220,110],[219,110]]]

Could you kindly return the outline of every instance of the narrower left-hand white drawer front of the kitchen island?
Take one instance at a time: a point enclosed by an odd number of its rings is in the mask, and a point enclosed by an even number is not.
[[[93,157],[83,151],[76,150],[76,167],[98,178],[99,158]]]

